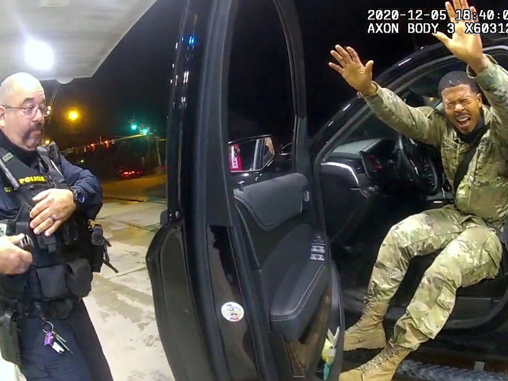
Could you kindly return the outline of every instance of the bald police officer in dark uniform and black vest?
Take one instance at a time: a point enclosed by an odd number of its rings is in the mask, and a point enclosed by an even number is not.
[[[89,171],[40,146],[47,115],[33,76],[0,85],[2,356],[28,381],[111,381],[82,301],[93,267],[88,220],[102,192]]]

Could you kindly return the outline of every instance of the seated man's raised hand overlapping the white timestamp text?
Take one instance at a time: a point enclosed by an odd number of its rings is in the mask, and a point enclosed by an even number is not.
[[[450,22],[453,23],[455,31],[452,38],[449,38],[441,32],[433,33],[433,36],[441,41],[453,55],[466,62],[478,73],[479,70],[481,71],[485,68],[488,63],[488,58],[483,53],[482,38],[480,35],[466,33],[466,23],[478,22],[478,12],[476,8],[469,7],[467,0],[453,0],[453,6],[450,2],[446,2],[444,6],[446,7]],[[467,10],[469,10],[471,18],[473,13],[477,15],[477,18],[474,20],[457,20],[456,10],[461,10],[462,14],[464,11],[467,12]]]

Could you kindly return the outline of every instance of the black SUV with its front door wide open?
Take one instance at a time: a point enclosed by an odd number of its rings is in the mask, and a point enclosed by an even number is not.
[[[438,154],[399,136],[358,97],[308,138],[306,79],[313,77],[301,20],[319,27],[321,11],[295,3],[185,3],[167,136],[168,208],[147,254],[157,325],[176,381],[338,379],[346,364],[343,332],[359,317],[389,228],[453,202]],[[302,16],[302,9],[311,13]],[[505,68],[507,42],[501,35],[484,39],[485,51]],[[263,54],[273,65],[259,63]],[[376,81],[412,106],[439,108],[439,78],[464,69],[435,44],[398,60]],[[264,96],[256,92],[261,87]],[[247,105],[245,115],[257,118],[259,131],[233,131],[228,112],[239,105]],[[275,139],[284,125],[294,133],[292,144],[239,170],[246,138]],[[239,132],[240,140],[231,139]],[[258,143],[255,149],[264,149]],[[289,167],[272,171],[282,155]],[[251,181],[242,183],[242,176]],[[386,317],[388,334],[430,261],[411,263]],[[398,376],[508,380],[478,369],[488,360],[508,361],[507,290],[505,271],[460,289],[444,330],[403,362]],[[329,332],[339,334],[327,375],[322,349]],[[477,361],[477,370],[426,363],[429,353]],[[344,358],[352,366],[368,356]]]

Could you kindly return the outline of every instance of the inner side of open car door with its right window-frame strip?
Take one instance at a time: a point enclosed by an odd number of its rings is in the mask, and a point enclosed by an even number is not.
[[[324,218],[319,218],[315,208],[319,195],[311,183],[298,17],[292,1],[275,0],[274,4],[287,44],[277,50],[288,51],[291,67],[294,173],[266,180],[261,176],[260,182],[235,190],[239,230],[245,243],[245,252],[238,255],[249,263],[246,276],[257,289],[279,379],[310,380],[315,379],[330,320],[331,260],[322,233]],[[318,240],[324,242],[323,252],[316,255],[311,247]]]

